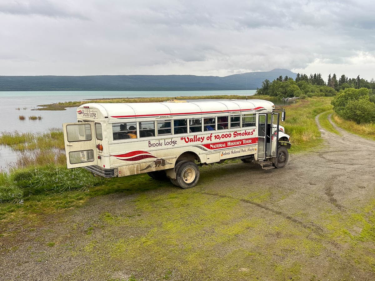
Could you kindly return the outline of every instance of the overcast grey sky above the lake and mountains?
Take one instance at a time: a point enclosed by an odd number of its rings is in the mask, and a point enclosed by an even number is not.
[[[371,79],[374,7],[369,0],[0,0],[0,75],[285,68]]]

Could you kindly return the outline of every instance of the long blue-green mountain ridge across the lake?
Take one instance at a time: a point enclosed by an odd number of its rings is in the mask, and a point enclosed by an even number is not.
[[[93,75],[0,76],[0,91],[209,91],[252,90],[279,76],[296,78],[287,69],[246,72],[229,76]]]

